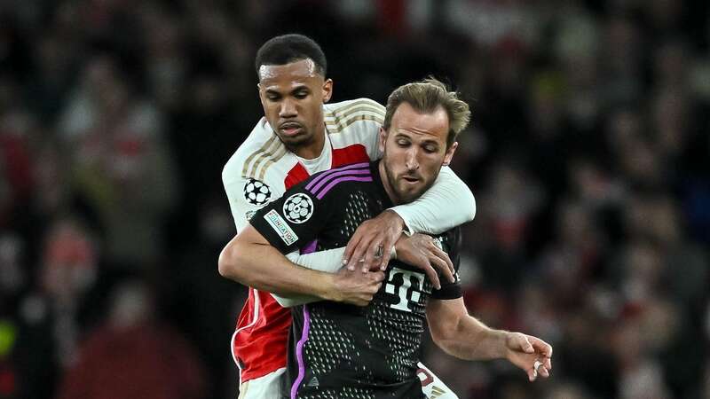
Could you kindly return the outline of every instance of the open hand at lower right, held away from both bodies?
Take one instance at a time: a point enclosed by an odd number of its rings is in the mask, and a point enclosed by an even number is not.
[[[549,377],[552,370],[552,347],[539,338],[521,332],[506,332],[506,357],[534,381],[541,375]]]

